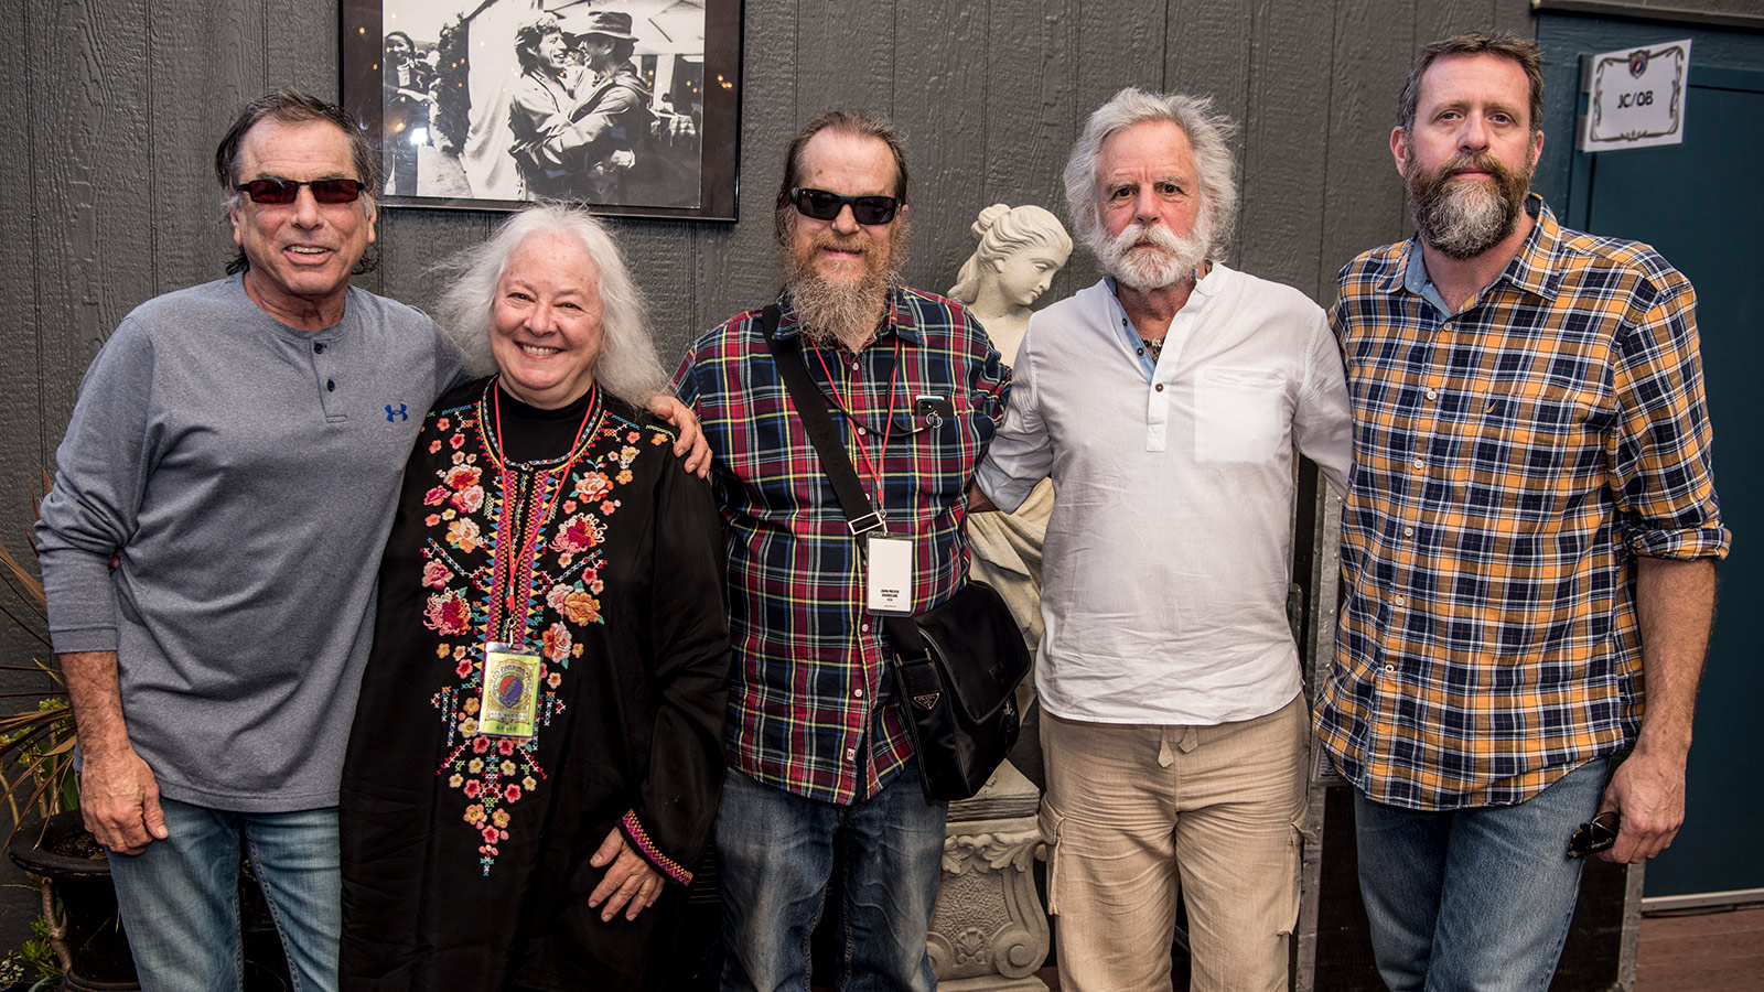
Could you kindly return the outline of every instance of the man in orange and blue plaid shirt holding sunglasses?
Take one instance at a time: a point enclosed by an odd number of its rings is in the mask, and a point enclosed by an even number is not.
[[[1646,861],[1685,817],[1729,545],[1697,298],[1528,194],[1542,113],[1533,42],[1427,46],[1390,136],[1416,235],[1330,314],[1355,471],[1316,724],[1394,992],[1545,988],[1579,858]]]

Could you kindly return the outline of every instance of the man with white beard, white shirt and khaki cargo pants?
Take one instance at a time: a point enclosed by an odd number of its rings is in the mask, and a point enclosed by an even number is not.
[[[1288,985],[1309,727],[1286,621],[1293,448],[1335,489],[1348,397],[1323,311],[1219,261],[1231,124],[1127,88],[1065,166],[1095,286],[1037,312],[979,471],[1014,508],[1053,478],[1043,560],[1048,909],[1060,987]]]

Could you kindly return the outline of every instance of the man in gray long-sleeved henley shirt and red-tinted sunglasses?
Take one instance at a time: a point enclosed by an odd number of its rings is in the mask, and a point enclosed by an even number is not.
[[[303,94],[245,108],[215,154],[235,274],[123,318],[42,501],[81,808],[148,990],[238,988],[242,844],[296,985],[337,983],[337,768],[379,552],[459,374],[434,321],[349,286],[379,189],[360,134]]]

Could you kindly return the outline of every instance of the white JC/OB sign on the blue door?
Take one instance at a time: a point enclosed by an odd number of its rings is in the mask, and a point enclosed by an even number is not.
[[[1685,141],[1690,39],[1586,55],[1581,69],[1581,90],[1589,97],[1581,116],[1582,152]]]

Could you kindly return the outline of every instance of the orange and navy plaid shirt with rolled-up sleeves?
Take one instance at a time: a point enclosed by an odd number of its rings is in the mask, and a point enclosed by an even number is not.
[[[1330,312],[1355,464],[1316,720],[1394,807],[1519,803],[1630,747],[1635,558],[1727,554],[1695,291],[1648,245],[1526,208],[1462,312],[1416,291],[1415,240],[1348,263]]]

